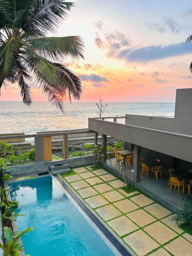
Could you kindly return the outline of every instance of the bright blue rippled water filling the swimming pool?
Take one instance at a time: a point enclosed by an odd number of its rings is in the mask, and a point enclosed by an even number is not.
[[[22,237],[26,254],[115,255],[96,230],[50,176],[9,184],[12,199],[19,201],[20,231],[35,229]]]

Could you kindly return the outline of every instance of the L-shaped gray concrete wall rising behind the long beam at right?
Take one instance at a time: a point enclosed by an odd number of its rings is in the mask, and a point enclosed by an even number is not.
[[[166,132],[192,135],[192,88],[178,89],[175,118],[126,115],[125,123]]]

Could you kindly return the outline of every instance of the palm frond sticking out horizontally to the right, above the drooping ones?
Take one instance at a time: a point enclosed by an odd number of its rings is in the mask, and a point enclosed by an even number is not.
[[[67,56],[83,58],[84,44],[79,36],[35,38],[28,42],[39,55],[48,59],[59,60]]]

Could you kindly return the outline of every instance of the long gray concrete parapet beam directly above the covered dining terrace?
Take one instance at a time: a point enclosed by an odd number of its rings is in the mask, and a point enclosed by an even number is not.
[[[192,162],[192,136],[89,118],[89,129]]]

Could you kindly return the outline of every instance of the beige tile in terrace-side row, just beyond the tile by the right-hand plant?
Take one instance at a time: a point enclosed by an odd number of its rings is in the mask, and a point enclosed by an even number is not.
[[[155,216],[157,219],[162,219],[169,214],[172,214],[170,210],[167,210],[165,207],[161,206],[158,203],[149,205],[144,208],[146,211],[150,212],[151,215]]]

